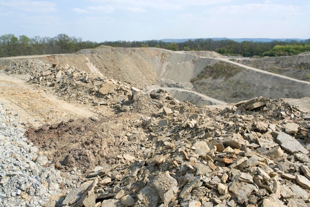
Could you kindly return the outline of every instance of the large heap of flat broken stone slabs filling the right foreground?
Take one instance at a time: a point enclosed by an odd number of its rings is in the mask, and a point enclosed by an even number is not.
[[[212,111],[163,106],[139,126],[146,140],[132,143],[143,157],[120,154],[98,166],[62,204],[308,207],[309,120],[265,98]]]

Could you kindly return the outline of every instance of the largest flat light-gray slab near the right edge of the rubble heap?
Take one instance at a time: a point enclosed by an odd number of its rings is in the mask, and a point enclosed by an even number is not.
[[[278,134],[277,140],[282,148],[289,152],[302,152],[304,154],[309,154],[309,151],[299,143],[295,138],[283,132],[276,132]]]

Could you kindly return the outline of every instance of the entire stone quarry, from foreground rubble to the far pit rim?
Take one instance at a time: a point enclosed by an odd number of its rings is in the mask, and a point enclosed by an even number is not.
[[[310,53],[0,58],[0,203],[309,207]]]

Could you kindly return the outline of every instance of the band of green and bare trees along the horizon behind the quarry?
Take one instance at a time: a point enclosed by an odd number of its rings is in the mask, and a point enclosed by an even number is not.
[[[101,43],[83,41],[81,37],[69,37],[66,34],[58,34],[55,37],[35,36],[29,38],[26,35],[16,37],[13,34],[0,36],[0,57],[21,55],[43,55],[74,53],[81,49],[96,48],[101,45],[111,47],[156,47],[172,51],[215,51],[222,55],[237,55],[243,57],[253,56],[289,56],[310,51],[310,39],[303,41],[272,41],[253,42],[234,40],[196,39],[181,43],[169,43],[160,40],[147,41],[105,41]]]

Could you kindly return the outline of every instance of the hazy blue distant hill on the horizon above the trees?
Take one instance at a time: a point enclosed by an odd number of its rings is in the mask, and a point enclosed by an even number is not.
[[[188,39],[161,39],[160,41],[162,42],[175,42],[175,43],[181,43],[181,42],[186,42],[188,40],[197,40],[197,39],[212,39],[212,40],[234,40],[236,42],[243,42],[243,41],[253,41],[253,42],[272,42],[272,41],[287,41],[290,42],[292,40],[296,41],[303,41],[304,39],[298,39],[298,38],[291,38],[291,39],[286,39],[286,38],[279,38],[279,39],[271,39],[271,38],[226,38],[226,37],[221,37],[221,38],[188,38]]]

